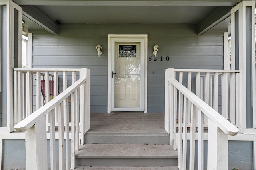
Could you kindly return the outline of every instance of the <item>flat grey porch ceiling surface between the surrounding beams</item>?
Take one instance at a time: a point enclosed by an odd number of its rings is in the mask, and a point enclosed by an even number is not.
[[[214,6],[39,6],[61,23],[198,23]]]

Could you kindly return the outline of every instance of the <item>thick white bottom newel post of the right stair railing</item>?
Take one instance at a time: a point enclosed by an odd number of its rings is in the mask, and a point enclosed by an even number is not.
[[[208,119],[208,170],[228,169],[228,135]]]

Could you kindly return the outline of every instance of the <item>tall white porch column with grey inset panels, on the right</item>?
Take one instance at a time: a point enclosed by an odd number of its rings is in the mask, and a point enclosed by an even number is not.
[[[232,70],[240,70],[236,104],[242,133],[256,133],[254,1],[242,1],[231,10]]]

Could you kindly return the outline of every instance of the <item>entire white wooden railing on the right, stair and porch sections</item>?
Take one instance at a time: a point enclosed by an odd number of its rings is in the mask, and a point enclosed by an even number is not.
[[[176,72],[179,72],[179,82],[176,80]],[[183,72],[187,72],[186,83],[183,82]],[[207,169],[228,169],[228,135],[236,135],[239,131],[228,120],[231,117],[233,122],[236,122],[234,121],[236,118],[232,115],[236,111],[235,101],[238,101],[235,93],[238,84],[238,80],[235,79],[237,73],[238,71],[230,70],[166,70],[165,127],[170,133],[170,145],[174,146],[174,150],[178,150],[180,170],[187,169],[188,161],[188,168],[195,169],[196,138],[198,139],[199,170],[204,169],[204,138],[208,138]],[[192,79],[193,74],[195,81]],[[213,82],[211,76],[213,76]],[[219,78],[221,83],[218,83]],[[194,87],[193,81],[196,85]],[[187,84],[187,88],[183,84]],[[223,90],[219,92],[218,88]],[[226,99],[227,91],[230,92],[230,99]],[[222,114],[218,113],[219,96],[222,99],[221,104],[225,105],[221,106]],[[230,114],[227,113],[227,108]],[[208,137],[204,133],[207,130]],[[189,160],[187,160],[187,140],[190,140]]]

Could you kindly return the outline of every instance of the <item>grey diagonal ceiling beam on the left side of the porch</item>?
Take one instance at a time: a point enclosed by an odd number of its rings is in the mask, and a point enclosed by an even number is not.
[[[21,6],[23,15],[34,21],[46,31],[58,35],[58,25],[37,6]]]

